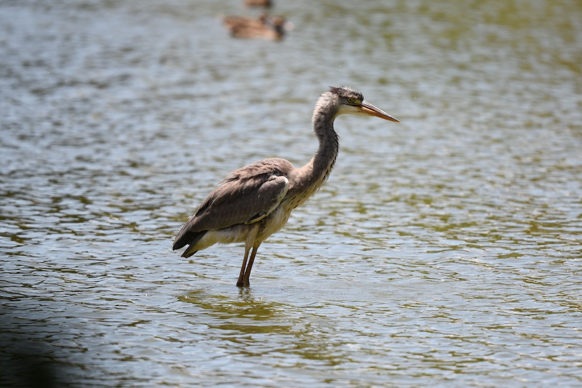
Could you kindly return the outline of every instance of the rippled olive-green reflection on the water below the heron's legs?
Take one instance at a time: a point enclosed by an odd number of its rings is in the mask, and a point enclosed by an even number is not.
[[[209,335],[225,341],[231,355],[269,357],[282,368],[305,368],[314,361],[330,366],[349,362],[346,350],[357,348],[357,341],[343,334],[336,337],[325,314],[331,305],[315,304],[298,312],[292,305],[253,294],[260,293],[245,289],[236,297],[226,297],[198,290],[179,300],[193,303],[215,318],[208,324]]]

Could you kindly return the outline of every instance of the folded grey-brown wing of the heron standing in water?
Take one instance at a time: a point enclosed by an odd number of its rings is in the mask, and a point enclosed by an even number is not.
[[[196,232],[258,222],[268,216],[289,190],[289,180],[283,176],[289,168],[293,165],[285,159],[265,159],[230,173],[182,227],[174,246],[187,244]]]

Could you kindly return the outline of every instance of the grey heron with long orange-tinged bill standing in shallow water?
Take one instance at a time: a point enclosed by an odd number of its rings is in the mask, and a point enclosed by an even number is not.
[[[182,257],[190,257],[217,243],[244,242],[243,265],[236,285],[248,287],[258,247],[285,226],[291,211],[328,179],[339,151],[333,121],[345,114],[398,122],[365,102],[360,92],[349,87],[330,88],[318,99],[311,118],[319,141],[313,158],[299,168],[281,158],[262,159],[229,173],[182,227],[173,250],[189,245]]]

